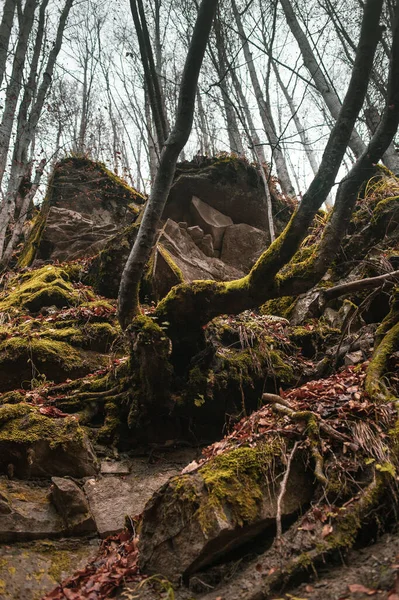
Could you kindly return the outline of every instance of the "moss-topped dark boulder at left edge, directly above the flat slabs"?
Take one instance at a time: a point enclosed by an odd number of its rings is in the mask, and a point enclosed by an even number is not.
[[[0,472],[20,478],[87,477],[97,462],[74,417],[55,419],[25,403],[0,406]]]

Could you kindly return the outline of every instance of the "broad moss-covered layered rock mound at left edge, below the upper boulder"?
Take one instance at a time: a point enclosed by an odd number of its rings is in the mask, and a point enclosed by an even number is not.
[[[73,268],[45,265],[8,281],[0,293],[0,393],[108,364],[115,308],[78,279]]]

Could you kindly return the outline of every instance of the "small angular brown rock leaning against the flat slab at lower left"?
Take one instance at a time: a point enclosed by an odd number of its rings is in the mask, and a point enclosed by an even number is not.
[[[96,524],[86,497],[71,479],[52,477],[51,498],[72,535],[93,533]]]

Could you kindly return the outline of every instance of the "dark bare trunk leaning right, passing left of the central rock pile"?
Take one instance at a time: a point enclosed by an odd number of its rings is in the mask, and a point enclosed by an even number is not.
[[[122,273],[118,295],[118,318],[123,329],[139,311],[138,291],[145,265],[154,245],[159,220],[172,185],[178,156],[192,127],[195,93],[217,0],[202,0],[187,53],[175,125],[160,157],[160,164],[143,215],[140,230]]]

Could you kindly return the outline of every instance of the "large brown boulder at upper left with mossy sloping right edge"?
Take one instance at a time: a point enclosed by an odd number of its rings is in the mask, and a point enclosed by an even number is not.
[[[121,227],[135,221],[144,201],[102,163],[63,159],[54,167],[19,265],[97,254]]]

